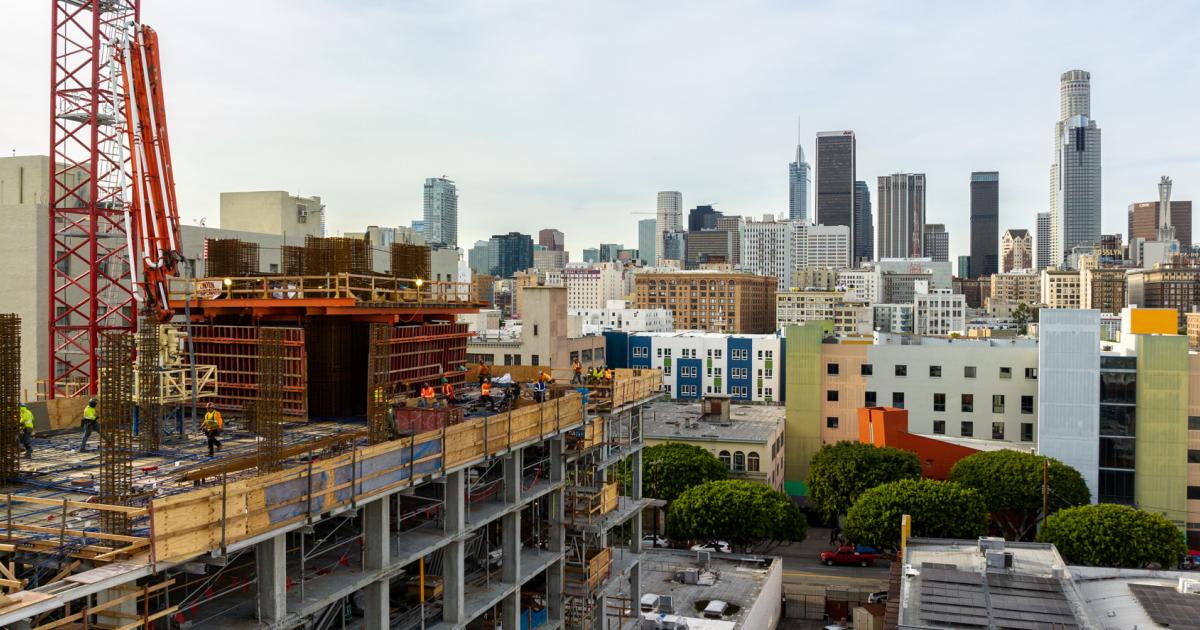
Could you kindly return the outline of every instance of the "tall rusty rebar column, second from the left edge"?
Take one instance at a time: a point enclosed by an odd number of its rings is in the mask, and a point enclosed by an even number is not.
[[[128,505],[133,496],[133,334],[104,332],[100,343],[100,502]],[[130,534],[125,514],[100,512],[109,534]]]

